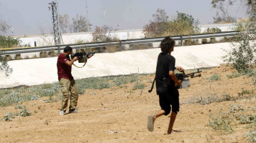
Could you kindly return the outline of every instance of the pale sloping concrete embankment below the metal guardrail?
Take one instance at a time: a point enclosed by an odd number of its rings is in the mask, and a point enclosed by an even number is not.
[[[223,49],[229,50],[231,47],[230,43],[177,46],[172,54],[176,59],[176,66],[194,69],[219,66],[224,63],[221,56],[226,53]],[[75,79],[83,79],[119,74],[155,73],[159,53],[160,48],[95,54],[88,59],[83,68],[73,66],[72,74]],[[10,77],[5,77],[5,74],[0,72],[0,88],[58,82],[57,58],[9,61],[13,73]],[[76,64],[81,65],[78,62]]]

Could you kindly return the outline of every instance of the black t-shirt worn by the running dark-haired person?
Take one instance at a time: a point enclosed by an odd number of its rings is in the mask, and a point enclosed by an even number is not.
[[[157,87],[157,94],[167,92],[168,88],[175,88],[174,81],[170,78],[169,71],[175,70],[175,58],[170,54],[163,52],[158,55],[157,70],[155,72],[155,81]],[[167,85],[164,78],[170,80],[171,85]]]

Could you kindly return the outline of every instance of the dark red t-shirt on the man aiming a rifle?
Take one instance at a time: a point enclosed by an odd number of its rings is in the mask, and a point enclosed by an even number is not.
[[[58,69],[58,79],[69,79],[73,80],[73,76],[71,74],[71,66],[68,66],[65,64],[65,61],[68,61],[67,57],[65,57],[65,54],[60,54],[58,56],[57,61],[57,69]]]

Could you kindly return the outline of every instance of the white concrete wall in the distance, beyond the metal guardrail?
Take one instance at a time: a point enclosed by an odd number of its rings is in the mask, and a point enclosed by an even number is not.
[[[208,24],[199,25],[201,33],[205,32],[208,28],[218,27],[221,31],[232,31],[234,30],[234,24]],[[127,29],[127,30],[116,30],[110,34],[112,37],[116,37],[120,40],[125,39],[141,39],[145,38],[142,29]],[[26,35],[27,36],[27,35]],[[37,46],[49,46],[54,45],[54,40],[52,34],[45,35],[32,35],[27,37],[17,36],[22,41],[23,44],[30,44],[35,46],[35,41]],[[79,42],[91,42],[93,41],[93,36],[91,32],[81,32],[81,33],[70,33],[62,34],[64,44],[76,44]]]

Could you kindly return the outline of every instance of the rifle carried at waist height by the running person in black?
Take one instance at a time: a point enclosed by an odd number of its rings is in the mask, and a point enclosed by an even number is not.
[[[190,86],[190,82],[189,82],[189,79],[188,77],[191,77],[191,78],[194,78],[194,77],[201,77],[201,74],[198,74],[200,73],[201,71],[199,71],[199,69],[197,69],[196,72],[192,72],[190,74],[185,74],[185,72],[183,72],[182,74],[175,74],[175,76],[177,77],[178,80],[181,80],[181,87],[178,87],[178,85],[175,84],[175,88],[177,89],[181,89],[181,88],[186,88],[186,87],[189,87]],[[198,75],[195,75],[195,74],[198,74]],[[170,78],[164,78],[163,79],[167,84],[170,83]],[[152,89],[154,88],[154,84],[155,84],[155,79],[154,81],[152,82],[152,87],[151,89],[148,91],[148,92],[152,92]],[[170,84],[169,84],[170,85]]]

